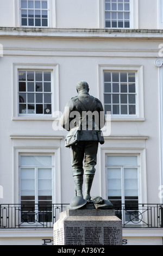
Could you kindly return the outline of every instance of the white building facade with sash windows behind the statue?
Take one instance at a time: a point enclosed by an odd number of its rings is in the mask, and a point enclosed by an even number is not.
[[[1,245],[53,244],[74,196],[59,113],[81,80],[111,111],[92,196],[124,245],[162,245],[162,29],[162,0],[0,0]]]

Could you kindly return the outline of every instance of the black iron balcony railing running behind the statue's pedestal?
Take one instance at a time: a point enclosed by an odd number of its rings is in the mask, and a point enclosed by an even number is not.
[[[60,212],[67,204],[52,204],[34,208],[21,204],[0,205],[0,228],[53,228]],[[116,216],[121,218],[123,228],[163,228],[163,205],[139,204],[115,207]]]

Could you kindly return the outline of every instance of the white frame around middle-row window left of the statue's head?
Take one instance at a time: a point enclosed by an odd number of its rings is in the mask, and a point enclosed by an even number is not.
[[[13,112],[12,120],[53,120],[54,111],[59,109],[59,66],[58,64],[13,64]],[[52,114],[19,114],[18,71],[51,71]]]

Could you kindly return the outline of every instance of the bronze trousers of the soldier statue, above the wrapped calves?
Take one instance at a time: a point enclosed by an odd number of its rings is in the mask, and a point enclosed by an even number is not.
[[[79,141],[77,145],[71,147],[71,164],[73,168],[73,176],[83,174],[95,174],[97,150],[97,141]]]

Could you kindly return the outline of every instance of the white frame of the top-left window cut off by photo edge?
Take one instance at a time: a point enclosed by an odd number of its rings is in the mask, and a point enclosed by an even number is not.
[[[21,25],[21,0],[14,0],[15,4],[15,27],[24,28],[55,28],[56,27],[56,0],[47,0],[48,2],[48,26],[22,26]]]

